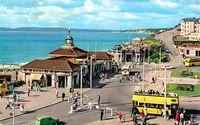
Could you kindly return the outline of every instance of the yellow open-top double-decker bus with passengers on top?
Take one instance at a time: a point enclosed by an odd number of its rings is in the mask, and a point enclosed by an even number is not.
[[[133,107],[138,113],[147,109],[148,114],[162,115],[164,109],[164,95],[133,94]],[[177,94],[167,95],[168,115],[174,117],[179,107],[179,97]]]

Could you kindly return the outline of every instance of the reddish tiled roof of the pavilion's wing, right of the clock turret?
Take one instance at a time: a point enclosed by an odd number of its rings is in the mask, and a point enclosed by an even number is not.
[[[112,56],[106,52],[88,52],[90,56],[94,56],[96,59],[112,59]]]

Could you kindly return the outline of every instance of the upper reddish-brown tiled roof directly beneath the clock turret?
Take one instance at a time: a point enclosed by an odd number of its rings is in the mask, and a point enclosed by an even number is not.
[[[86,55],[87,51],[82,50],[77,47],[66,47],[66,48],[59,48],[53,52],[50,52],[49,54],[58,55],[58,56],[77,57],[77,56]]]

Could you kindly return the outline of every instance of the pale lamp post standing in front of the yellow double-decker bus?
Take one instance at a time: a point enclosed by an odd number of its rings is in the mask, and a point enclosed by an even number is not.
[[[165,77],[164,77],[164,119],[167,119],[167,83],[166,83],[166,77],[167,77],[167,70],[165,66]]]

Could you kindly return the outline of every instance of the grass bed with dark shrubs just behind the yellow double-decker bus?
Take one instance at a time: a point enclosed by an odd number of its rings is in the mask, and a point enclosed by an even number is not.
[[[200,85],[193,85],[194,90],[180,90],[178,88],[180,84],[167,84],[167,92],[177,93],[179,96],[200,96]]]

